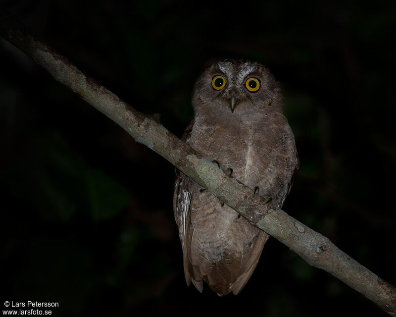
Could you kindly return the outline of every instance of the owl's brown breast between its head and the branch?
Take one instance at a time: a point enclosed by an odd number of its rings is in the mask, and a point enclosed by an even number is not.
[[[193,127],[188,143],[220,168],[233,169],[233,177],[260,194],[279,197],[290,181],[293,149],[287,142],[289,125],[271,120],[231,121],[227,124],[200,123]],[[293,136],[293,135],[292,135]],[[293,167],[294,171],[294,167]]]

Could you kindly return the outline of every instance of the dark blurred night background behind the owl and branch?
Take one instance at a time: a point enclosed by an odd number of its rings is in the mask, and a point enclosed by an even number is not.
[[[300,158],[284,210],[396,284],[395,1],[1,3],[120,98],[160,113],[179,137],[206,66],[265,63],[282,83]],[[59,302],[54,316],[385,316],[274,238],[238,296],[187,287],[173,166],[2,38],[0,146],[1,307]]]

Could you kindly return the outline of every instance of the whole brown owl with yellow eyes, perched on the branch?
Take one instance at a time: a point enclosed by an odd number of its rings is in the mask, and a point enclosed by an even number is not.
[[[298,168],[294,135],[282,107],[280,85],[264,65],[217,62],[195,84],[195,116],[183,140],[281,208]],[[187,284],[193,282],[202,292],[205,281],[219,296],[238,294],[268,234],[181,172],[173,206]]]

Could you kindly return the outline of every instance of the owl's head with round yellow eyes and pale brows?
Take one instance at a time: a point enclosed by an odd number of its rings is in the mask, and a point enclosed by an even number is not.
[[[262,64],[248,60],[224,60],[208,67],[194,88],[195,111],[202,107],[223,112],[282,112],[278,82]]]

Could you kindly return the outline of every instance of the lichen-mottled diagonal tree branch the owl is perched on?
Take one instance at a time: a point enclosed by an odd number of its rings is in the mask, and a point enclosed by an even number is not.
[[[251,224],[287,245],[308,264],[324,269],[391,316],[396,316],[395,287],[350,258],[328,238],[276,209],[269,197],[254,195],[250,188],[227,176],[216,164],[202,157],[154,119],[138,112],[85,75],[4,12],[0,13],[0,34],[49,71],[55,80],[114,120],[137,142],[145,144],[207,188]]]

